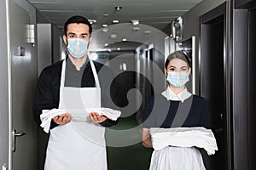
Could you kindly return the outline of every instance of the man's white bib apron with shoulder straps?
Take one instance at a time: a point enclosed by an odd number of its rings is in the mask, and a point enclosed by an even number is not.
[[[105,128],[86,120],[84,108],[101,107],[101,89],[96,68],[90,60],[96,88],[64,87],[66,60],[61,70],[59,109],[73,121],[50,130],[45,170],[107,170]],[[84,117],[84,120],[76,119]]]

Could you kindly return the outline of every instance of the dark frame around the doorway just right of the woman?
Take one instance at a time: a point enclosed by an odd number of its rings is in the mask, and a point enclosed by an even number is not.
[[[212,9],[210,12],[201,15],[201,27],[200,32],[202,34],[202,26],[208,21],[218,18],[221,15],[224,15],[224,96],[225,96],[225,110],[226,110],[226,119],[225,122],[225,147],[227,153],[227,167],[229,170],[233,169],[233,152],[232,152],[232,124],[231,124],[231,115],[232,115],[232,82],[233,82],[233,72],[232,72],[232,53],[230,50],[231,47],[231,38],[230,38],[230,16],[231,16],[231,5],[232,3],[226,1],[222,3],[217,8]],[[202,43],[202,35],[200,37],[200,43]],[[201,44],[202,45],[202,44]],[[200,47],[201,47],[200,45]],[[201,55],[203,51],[207,50],[200,48],[200,57],[199,57],[199,93],[201,94],[201,83],[202,83],[202,65],[201,65]]]

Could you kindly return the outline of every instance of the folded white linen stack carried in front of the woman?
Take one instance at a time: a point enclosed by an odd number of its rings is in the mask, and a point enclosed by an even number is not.
[[[207,154],[214,155],[218,150],[212,130],[205,127],[150,128],[154,150],[166,146],[203,148]]]

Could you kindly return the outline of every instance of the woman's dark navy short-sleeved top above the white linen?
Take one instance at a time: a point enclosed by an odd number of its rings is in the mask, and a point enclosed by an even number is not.
[[[190,104],[189,104],[190,103]],[[183,114],[182,116],[177,116]],[[176,117],[176,122],[173,122]],[[178,118],[180,117],[180,118]],[[177,119],[178,118],[178,119]],[[209,127],[207,100],[197,95],[181,101],[167,100],[162,94],[151,97],[143,112],[143,127]]]

